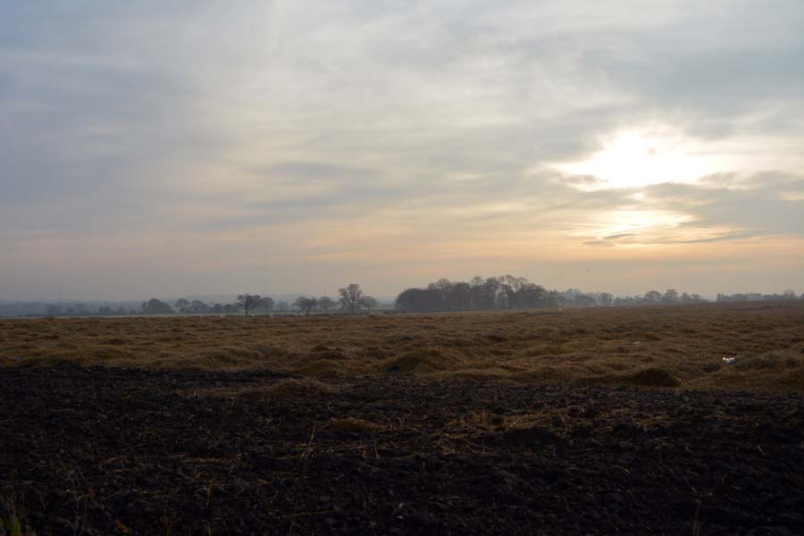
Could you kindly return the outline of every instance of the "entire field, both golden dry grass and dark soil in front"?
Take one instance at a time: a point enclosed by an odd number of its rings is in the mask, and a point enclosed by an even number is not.
[[[4,320],[0,534],[804,533],[802,390],[800,302]]]

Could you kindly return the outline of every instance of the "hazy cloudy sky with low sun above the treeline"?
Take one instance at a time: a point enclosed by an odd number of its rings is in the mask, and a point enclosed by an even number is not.
[[[804,291],[800,0],[0,0],[0,299]]]

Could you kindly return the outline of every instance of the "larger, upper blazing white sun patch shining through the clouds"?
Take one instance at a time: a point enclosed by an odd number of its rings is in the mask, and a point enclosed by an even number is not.
[[[604,139],[590,159],[560,163],[557,168],[574,175],[602,180],[586,188],[639,188],[661,182],[691,182],[714,172],[712,163],[681,135],[661,130],[625,130]]]

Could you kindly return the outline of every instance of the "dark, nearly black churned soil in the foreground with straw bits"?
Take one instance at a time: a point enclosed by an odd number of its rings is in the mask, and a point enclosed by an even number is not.
[[[804,395],[389,373],[209,396],[278,381],[0,369],[0,517],[39,536],[804,533]]]

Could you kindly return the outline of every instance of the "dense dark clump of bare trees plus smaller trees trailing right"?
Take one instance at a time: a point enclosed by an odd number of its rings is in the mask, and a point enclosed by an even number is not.
[[[644,296],[614,297],[608,292],[583,293],[578,289],[548,290],[523,277],[502,275],[470,281],[440,279],[422,289],[403,290],[396,300],[399,311],[471,311],[490,309],[532,309],[540,307],[638,306],[651,304],[698,303],[706,301],[698,294],[664,293],[649,290]]]

